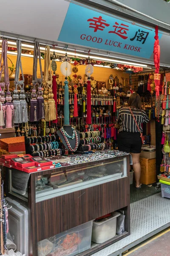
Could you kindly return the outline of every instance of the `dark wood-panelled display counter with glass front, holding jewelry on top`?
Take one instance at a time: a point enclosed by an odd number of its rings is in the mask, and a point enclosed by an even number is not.
[[[37,256],[42,240],[118,210],[125,212],[125,232],[79,255],[90,256],[130,234],[129,155],[77,160],[30,174],[16,171],[6,168],[6,195],[29,209],[29,256]],[[19,177],[28,182],[25,192],[17,189]]]

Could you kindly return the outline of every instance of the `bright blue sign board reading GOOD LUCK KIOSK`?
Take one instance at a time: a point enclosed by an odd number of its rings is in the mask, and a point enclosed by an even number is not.
[[[58,41],[150,58],[154,36],[154,29],[70,3]]]

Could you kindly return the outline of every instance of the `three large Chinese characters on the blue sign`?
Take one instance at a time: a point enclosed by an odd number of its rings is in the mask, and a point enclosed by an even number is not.
[[[102,19],[102,16],[97,17],[93,17],[92,19],[88,19],[87,20],[89,23],[89,28],[94,29],[94,32],[97,32],[98,30],[103,31],[105,29],[105,27],[110,26],[110,24],[107,23],[106,20]],[[128,38],[128,31],[129,31],[129,26],[125,25],[123,23],[121,23],[119,25],[119,23],[115,22],[115,25],[113,25],[114,30],[113,31],[109,31],[108,33],[113,33],[118,35],[119,37],[121,37],[122,39],[127,39]],[[130,41],[139,41],[142,42],[142,44],[145,43],[147,36],[149,35],[149,32],[145,32],[143,30],[138,30],[136,31],[135,35],[133,38],[130,38]]]

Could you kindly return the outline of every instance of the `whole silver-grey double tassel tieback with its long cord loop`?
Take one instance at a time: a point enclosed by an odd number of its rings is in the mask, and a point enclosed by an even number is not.
[[[22,74],[22,79],[19,81],[20,70]],[[17,40],[17,63],[15,70],[15,80],[14,80],[14,94],[13,94],[13,105],[14,105],[14,123],[28,122],[28,113],[27,113],[27,105],[25,100],[24,93],[24,76],[23,76],[23,68],[21,64],[21,41]],[[20,100],[19,93],[17,87],[20,88]]]

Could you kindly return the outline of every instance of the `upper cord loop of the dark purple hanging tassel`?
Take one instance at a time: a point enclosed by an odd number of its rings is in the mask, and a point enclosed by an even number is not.
[[[39,58],[39,65],[40,65],[40,75],[41,78],[37,79],[37,63]],[[38,87],[42,86],[42,65],[41,65],[41,53],[40,53],[40,44],[39,42],[34,42],[34,63],[33,63],[33,76],[32,76],[32,83],[34,85],[34,89],[36,84],[38,84]]]

